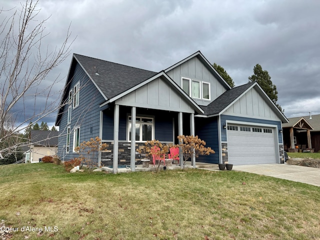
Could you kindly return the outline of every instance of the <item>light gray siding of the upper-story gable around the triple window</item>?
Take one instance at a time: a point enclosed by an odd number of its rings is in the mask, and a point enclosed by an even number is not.
[[[199,105],[207,105],[226,91],[225,87],[217,80],[206,65],[200,61],[198,57],[183,62],[166,72],[173,81],[181,87],[181,77],[191,78],[193,80],[204,81],[210,83],[210,100],[196,99],[193,100]]]

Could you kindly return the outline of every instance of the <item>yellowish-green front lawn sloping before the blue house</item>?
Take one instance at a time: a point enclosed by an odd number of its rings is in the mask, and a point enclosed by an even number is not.
[[[242,184],[245,183],[245,184]],[[11,239],[319,239],[320,188],[237,171],[67,173],[0,166]]]

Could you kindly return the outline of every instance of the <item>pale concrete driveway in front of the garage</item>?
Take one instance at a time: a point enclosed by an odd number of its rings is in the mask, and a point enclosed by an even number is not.
[[[290,164],[233,165],[232,170],[273,176],[291,181],[320,186],[320,168]]]

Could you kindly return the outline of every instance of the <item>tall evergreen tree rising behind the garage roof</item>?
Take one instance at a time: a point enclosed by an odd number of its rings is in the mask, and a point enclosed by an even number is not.
[[[276,90],[276,86],[271,81],[271,77],[268,71],[262,70],[261,65],[256,64],[253,67],[253,73],[253,75],[248,77],[248,82],[256,81],[268,95],[268,97],[270,97],[274,104],[280,109],[280,111],[283,112],[284,110],[282,110],[281,106],[276,103],[276,101],[278,100],[278,92]]]

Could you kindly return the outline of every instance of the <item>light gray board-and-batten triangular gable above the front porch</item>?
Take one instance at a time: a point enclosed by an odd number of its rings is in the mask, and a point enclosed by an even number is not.
[[[183,95],[158,77],[115,101],[115,104],[193,113]]]

